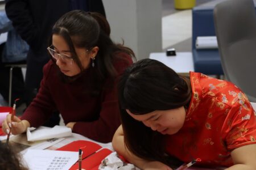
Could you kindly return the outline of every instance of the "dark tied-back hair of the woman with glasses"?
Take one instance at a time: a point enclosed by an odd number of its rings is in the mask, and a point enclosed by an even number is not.
[[[114,44],[110,39],[110,26],[106,18],[96,12],[85,12],[82,10],[73,10],[61,16],[59,20],[53,25],[52,35],[60,35],[67,42],[72,57],[77,65],[81,69],[81,74],[70,78],[64,77],[69,81],[81,76],[83,72],[90,74],[91,78],[91,90],[99,94],[102,84],[106,78],[114,80],[117,75],[114,68],[115,59],[120,58],[117,53],[124,52],[134,58],[133,50],[123,46],[122,44]],[[52,39],[51,39],[52,43]],[[75,52],[75,46],[77,48],[92,49],[94,46],[98,46],[99,50],[97,56],[94,59],[95,67],[89,67],[84,70],[82,63]]]

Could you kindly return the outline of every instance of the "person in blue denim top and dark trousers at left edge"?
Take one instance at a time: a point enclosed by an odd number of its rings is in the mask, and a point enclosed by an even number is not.
[[[7,33],[6,42],[0,45],[0,94],[5,101],[9,101],[9,86],[10,86],[10,65],[19,65],[26,63],[27,52],[29,46],[26,41],[16,33],[11,21],[7,18],[5,11],[0,11],[0,34]],[[2,35],[1,35],[2,36]],[[13,68],[11,78],[13,86],[11,88],[10,103],[13,105],[15,99],[24,99],[24,79],[22,70],[19,67]],[[5,105],[5,103],[2,103]],[[18,105],[20,102],[18,103]],[[18,106],[17,105],[17,106]]]

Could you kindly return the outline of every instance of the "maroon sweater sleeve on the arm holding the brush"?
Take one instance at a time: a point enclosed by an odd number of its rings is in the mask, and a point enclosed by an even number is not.
[[[40,84],[40,89],[35,99],[23,113],[21,120],[30,122],[31,127],[37,128],[46,122],[53,111],[56,111],[55,102],[52,99],[48,87],[48,76],[52,69],[52,61],[49,61],[43,68],[43,79]]]

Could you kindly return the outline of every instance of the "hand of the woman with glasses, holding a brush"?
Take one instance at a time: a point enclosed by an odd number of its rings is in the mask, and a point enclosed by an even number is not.
[[[4,133],[9,134],[11,128],[11,134],[20,134],[27,131],[30,127],[30,122],[27,120],[20,120],[18,117],[13,117],[13,122],[11,121],[11,114],[7,114],[6,120],[2,123],[2,130]]]

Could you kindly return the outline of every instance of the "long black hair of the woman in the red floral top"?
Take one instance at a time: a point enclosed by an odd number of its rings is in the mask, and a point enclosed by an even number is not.
[[[189,83],[154,59],[142,59],[125,70],[118,84],[118,100],[125,145],[133,154],[168,165],[176,163],[164,154],[166,136],[134,120],[126,109],[134,114],[146,114],[186,106],[191,100]]]

